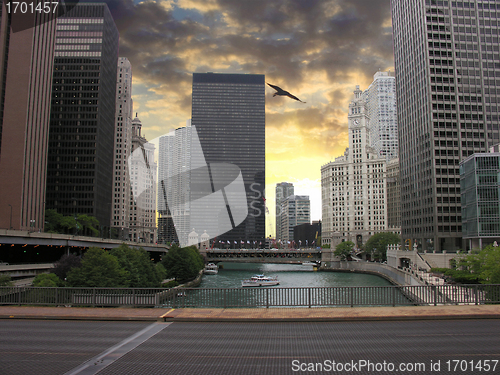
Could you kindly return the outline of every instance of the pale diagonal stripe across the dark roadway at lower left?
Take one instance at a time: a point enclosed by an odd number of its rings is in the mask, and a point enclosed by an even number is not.
[[[143,330],[134,333],[132,336],[126,338],[122,342],[112,346],[101,354],[89,359],[87,362],[82,363],[80,366],[75,367],[73,370],[68,371],[64,375],[94,375],[101,371],[103,368],[109,366],[118,358],[134,350],[143,342],[149,340],[158,332],[165,329],[172,323],[153,323]]]

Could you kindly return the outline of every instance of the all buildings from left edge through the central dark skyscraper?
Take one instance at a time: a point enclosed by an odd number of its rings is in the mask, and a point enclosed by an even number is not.
[[[263,75],[193,74],[188,126],[148,142],[105,3],[57,17],[9,16],[4,7],[1,228],[43,231],[45,211],[55,209],[75,223],[95,217],[103,237],[186,244],[196,229],[265,241]]]

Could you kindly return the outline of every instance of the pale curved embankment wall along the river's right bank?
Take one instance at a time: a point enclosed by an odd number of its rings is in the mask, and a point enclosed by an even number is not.
[[[375,262],[330,261],[323,262],[320,270],[330,272],[369,273],[383,277],[394,285],[424,285],[411,273],[404,272],[386,264]]]

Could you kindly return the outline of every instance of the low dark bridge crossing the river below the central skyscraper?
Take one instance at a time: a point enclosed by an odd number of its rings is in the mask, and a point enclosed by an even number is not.
[[[207,249],[208,262],[289,263],[321,262],[321,249]]]

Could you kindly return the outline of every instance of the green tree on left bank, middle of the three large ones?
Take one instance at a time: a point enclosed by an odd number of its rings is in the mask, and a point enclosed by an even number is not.
[[[156,288],[165,277],[163,266],[155,266],[143,250],[129,248],[122,244],[113,250],[111,255],[118,259],[120,266],[127,271],[127,286],[131,288]]]

